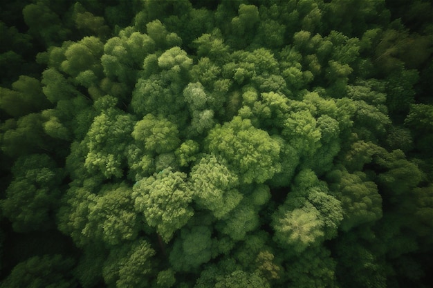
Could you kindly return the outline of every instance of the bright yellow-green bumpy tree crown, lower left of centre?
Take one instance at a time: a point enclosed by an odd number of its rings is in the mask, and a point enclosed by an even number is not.
[[[181,229],[194,214],[190,207],[192,193],[185,183],[186,177],[185,173],[172,172],[167,168],[133,186],[136,211],[145,216],[149,226],[156,227],[165,242],[169,242],[174,232]]]

